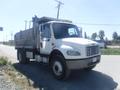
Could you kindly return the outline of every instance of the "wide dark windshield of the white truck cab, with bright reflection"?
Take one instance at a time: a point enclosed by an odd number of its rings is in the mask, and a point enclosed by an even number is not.
[[[54,23],[53,32],[56,39],[80,37],[77,26],[65,23]]]

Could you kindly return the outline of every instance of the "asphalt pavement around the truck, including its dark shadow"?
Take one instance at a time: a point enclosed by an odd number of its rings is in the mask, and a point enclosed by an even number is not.
[[[7,56],[15,68],[23,73],[33,86],[44,90],[120,90],[120,56],[103,55],[101,62],[91,71],[72,71],[69,79],[54,79],[48,65],[31,62],[19,64],[14,47],[0,45],[0,56]],[[116,89],[117,88],[117,89]]]

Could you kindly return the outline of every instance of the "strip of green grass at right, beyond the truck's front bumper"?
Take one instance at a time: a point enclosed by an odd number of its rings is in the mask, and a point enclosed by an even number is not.
[[[120,55],[120,48],[101,49],[102,55]]]

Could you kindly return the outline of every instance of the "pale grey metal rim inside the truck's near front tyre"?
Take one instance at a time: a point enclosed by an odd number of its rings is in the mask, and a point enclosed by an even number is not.
[[[53,64],[53,72],[55,75],[60,76],[63,72],[62,65],[59,61],[55,61]]]

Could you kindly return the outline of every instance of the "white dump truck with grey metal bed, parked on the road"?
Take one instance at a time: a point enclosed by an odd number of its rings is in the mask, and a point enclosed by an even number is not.
[[[33,26],[14,36],[19,63],[47,63],[56,79],[66,79],[71,70],[92,70],[100,62],[97,42],[81,37],[72,21],[37,16]]]

